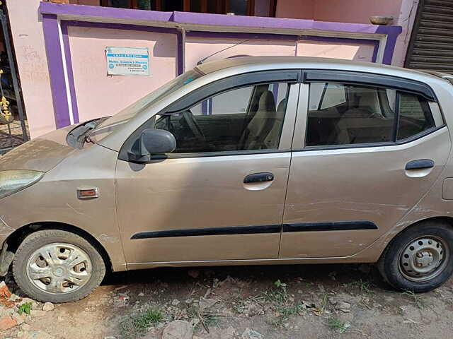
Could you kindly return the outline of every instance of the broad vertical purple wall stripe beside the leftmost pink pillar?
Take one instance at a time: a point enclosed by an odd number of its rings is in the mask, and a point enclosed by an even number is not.
[[[64,81],[62,50],[59,43],[57,16],[42,15],[47,65],[49,66],[50,88],[54,104],[55,125],[57,129],[71,124],[67,102],[66,83]]]

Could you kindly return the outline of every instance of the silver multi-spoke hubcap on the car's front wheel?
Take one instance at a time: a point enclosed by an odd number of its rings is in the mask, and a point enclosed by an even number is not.
[[[91,260],[71,244],[54,243],[37,249],[28,259],[27,276],[33,285],[49,293],[78,290],[91,278]]]

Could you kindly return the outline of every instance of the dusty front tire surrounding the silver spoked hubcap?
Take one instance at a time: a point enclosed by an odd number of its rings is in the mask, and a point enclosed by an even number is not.
[[[45,292],[33,285],[27,275],[27,263],[30,256],[42,246],[52,243],[66,243],[83,249],[91,260],[91,277],[74,292],[55,294]],[[105,263],[99,251],[86,239],[77,234],[62,230],[41,230],[26,237],[16,251],[13,260],[13,275],[21,290],[30,298],[40,302],[74,302],[83,299],[101,284],[105,275]]]

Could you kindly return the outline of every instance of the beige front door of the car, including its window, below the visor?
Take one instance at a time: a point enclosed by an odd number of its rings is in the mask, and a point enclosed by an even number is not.
[[[129,266],[277,258],[298,93],[297,83],[244,85],[156,117],[176,150],[117,161]]]

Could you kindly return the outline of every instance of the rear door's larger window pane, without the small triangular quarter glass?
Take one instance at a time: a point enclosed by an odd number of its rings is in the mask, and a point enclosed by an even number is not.
[[[323,93],[319,95],[320,85]],[[391,93],[394,95],[394,93]],[[311,83],[307,146],[391,141],[394,107],[388,91],[342,83]]]

